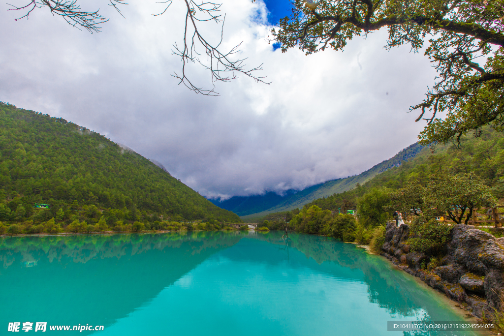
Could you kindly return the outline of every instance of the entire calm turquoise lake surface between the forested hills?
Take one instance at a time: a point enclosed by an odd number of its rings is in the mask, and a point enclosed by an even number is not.
[[[11,334],[10,322],[25,334],[29,321],[47,322],[48,334],[391,336],[403,332],[387,331],[387,321],[463,321],[381,256],[331,238],[281,236],[0,238],[0,334]],[[104,328],[49,330],[79,324]]]

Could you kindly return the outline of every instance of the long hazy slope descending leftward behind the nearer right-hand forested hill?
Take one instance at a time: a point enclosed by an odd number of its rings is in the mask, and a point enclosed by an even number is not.
[[[306,189],[298,191],[284,198],[283,201],[274,207],[247,216],[241,216],[242,220],[254,221],[257,218],[262,218],[270,213],[285,212],[292,209],[302,208],[305,204],[314,199],[328,197],[335,193],[341,193],[355,188],[357,184],[364,184],[378,174],[383,173],[394,167],[401,166],[407,160],[411,160],[418,153],[422,151],[423,146],[418,143],[413,144],[401,152],[397,153],[393,158],[382,161],[381,163],[373,166],[359,175],[350,176],[347,178],[340,178],[336,180],[327,181],[325,183],[310,186]]]

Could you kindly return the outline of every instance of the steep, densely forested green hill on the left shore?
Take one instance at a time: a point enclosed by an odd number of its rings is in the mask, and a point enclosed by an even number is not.
[[[116,209],[107,221],[239,221],[156,163],[65,119],[0,103],[0,220],[28,219],[43,203],[41,220]]]

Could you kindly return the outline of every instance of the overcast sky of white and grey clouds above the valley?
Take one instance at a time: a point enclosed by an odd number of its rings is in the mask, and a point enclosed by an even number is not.
[[[240,77],[207,97],[170,76],[180,70],[171,49],[182,37],[183,2],[154,17],[162,5],[130,1],[125,18],[105,1],[84,4],[110,17],[101,33],[45,8],[15,21],[19,13],[0,4],[0,101],[95,130],[203,195],[281,193],[358,174],[415,143],[424,126],[407,112],[435,71],[408,46],[383,49],[386,31],[354,38],[344,52],[281,53],[267,38],[285,8],[224,0],[224,49],[243,41],[238,56],[264,63],[260,75],[272,83]],[[216,40],[220,30],[205,32]],[[208,73],[191,71],[211,87]]]

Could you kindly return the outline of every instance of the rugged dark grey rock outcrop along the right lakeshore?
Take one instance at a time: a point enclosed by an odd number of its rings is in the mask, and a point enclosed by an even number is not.
[[[466,303],[471,313],[482,317],[504,310],[504,238],[468,225],[455,225],[445,245],[442,265],[427,271],[429,256],[410,252],[408,225],[387,225],[382,255],[402,270],[416,276],[451,299]]]

